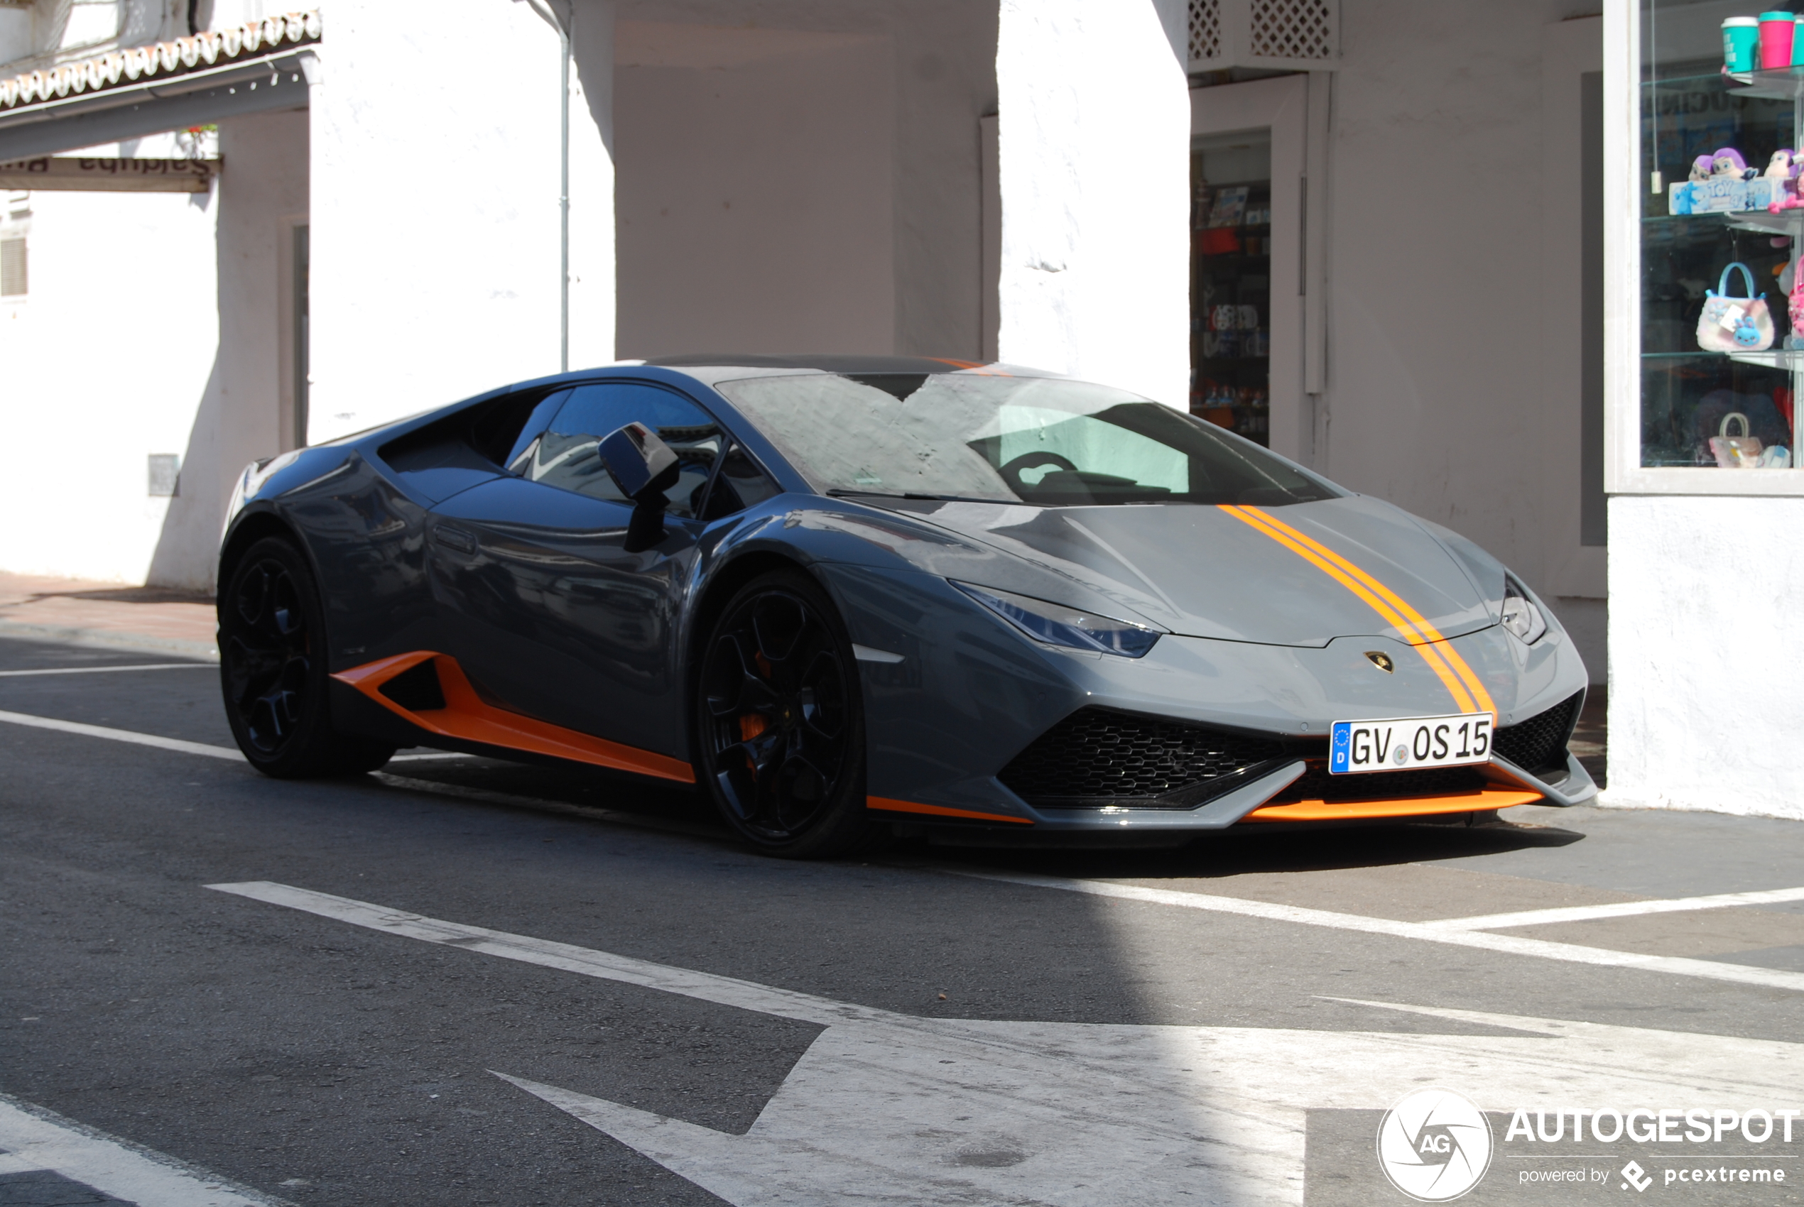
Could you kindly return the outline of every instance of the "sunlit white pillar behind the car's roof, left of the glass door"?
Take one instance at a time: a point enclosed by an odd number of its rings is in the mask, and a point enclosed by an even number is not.
[[[1183,0],[1001,0],[999,359],[1189,402]]]

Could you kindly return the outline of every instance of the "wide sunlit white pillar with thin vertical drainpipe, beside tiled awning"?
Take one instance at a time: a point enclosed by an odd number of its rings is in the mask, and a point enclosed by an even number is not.
[[[557,372],[559,41],[527,4],[325,0],[312,90],[319,442]],[[613,355],[612,7],[572,22],[572,366]]]

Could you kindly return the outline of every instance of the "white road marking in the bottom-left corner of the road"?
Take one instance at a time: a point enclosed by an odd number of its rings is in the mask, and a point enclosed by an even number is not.
[[[280,1198],[0,1095],[0,1175],[52,1169],[139,1207],[276,1207]],[[61,1202],[61,1200],[58,1200]]]

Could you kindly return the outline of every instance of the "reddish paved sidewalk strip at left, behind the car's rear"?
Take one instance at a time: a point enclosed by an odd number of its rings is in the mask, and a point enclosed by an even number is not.
[[[213,624],[209,595],[0,572],[0,637],[216,659]]]

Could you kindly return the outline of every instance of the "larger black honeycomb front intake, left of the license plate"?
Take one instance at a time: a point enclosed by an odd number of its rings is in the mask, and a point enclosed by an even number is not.
[[[1079,709],[1003,767],[999,779],[1046,808],[1135,805],[1191,808],[1158,797],[1283,758],[1279,738],[1236,734],[1156,716]]]

